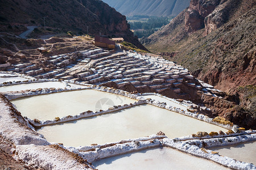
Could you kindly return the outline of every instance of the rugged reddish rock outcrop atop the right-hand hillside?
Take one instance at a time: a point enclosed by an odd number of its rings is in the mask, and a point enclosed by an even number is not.
[[[185,11],[186,31],[195,32],[205,28],[204,36],[220,28],[230,19],[242,14],[254,6],[253,1],[237,0],[191,0],[188,10]],[[242,9],[241,9],[242,6]]]

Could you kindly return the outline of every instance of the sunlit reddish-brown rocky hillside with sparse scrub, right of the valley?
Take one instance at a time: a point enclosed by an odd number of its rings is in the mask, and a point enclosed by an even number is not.
[[[229,94],[228,100],[238,105],[222,116],[232,121],[251,115],[255,121],[255,4],[254,0],[191,0],[168,25],[141,41]]]

